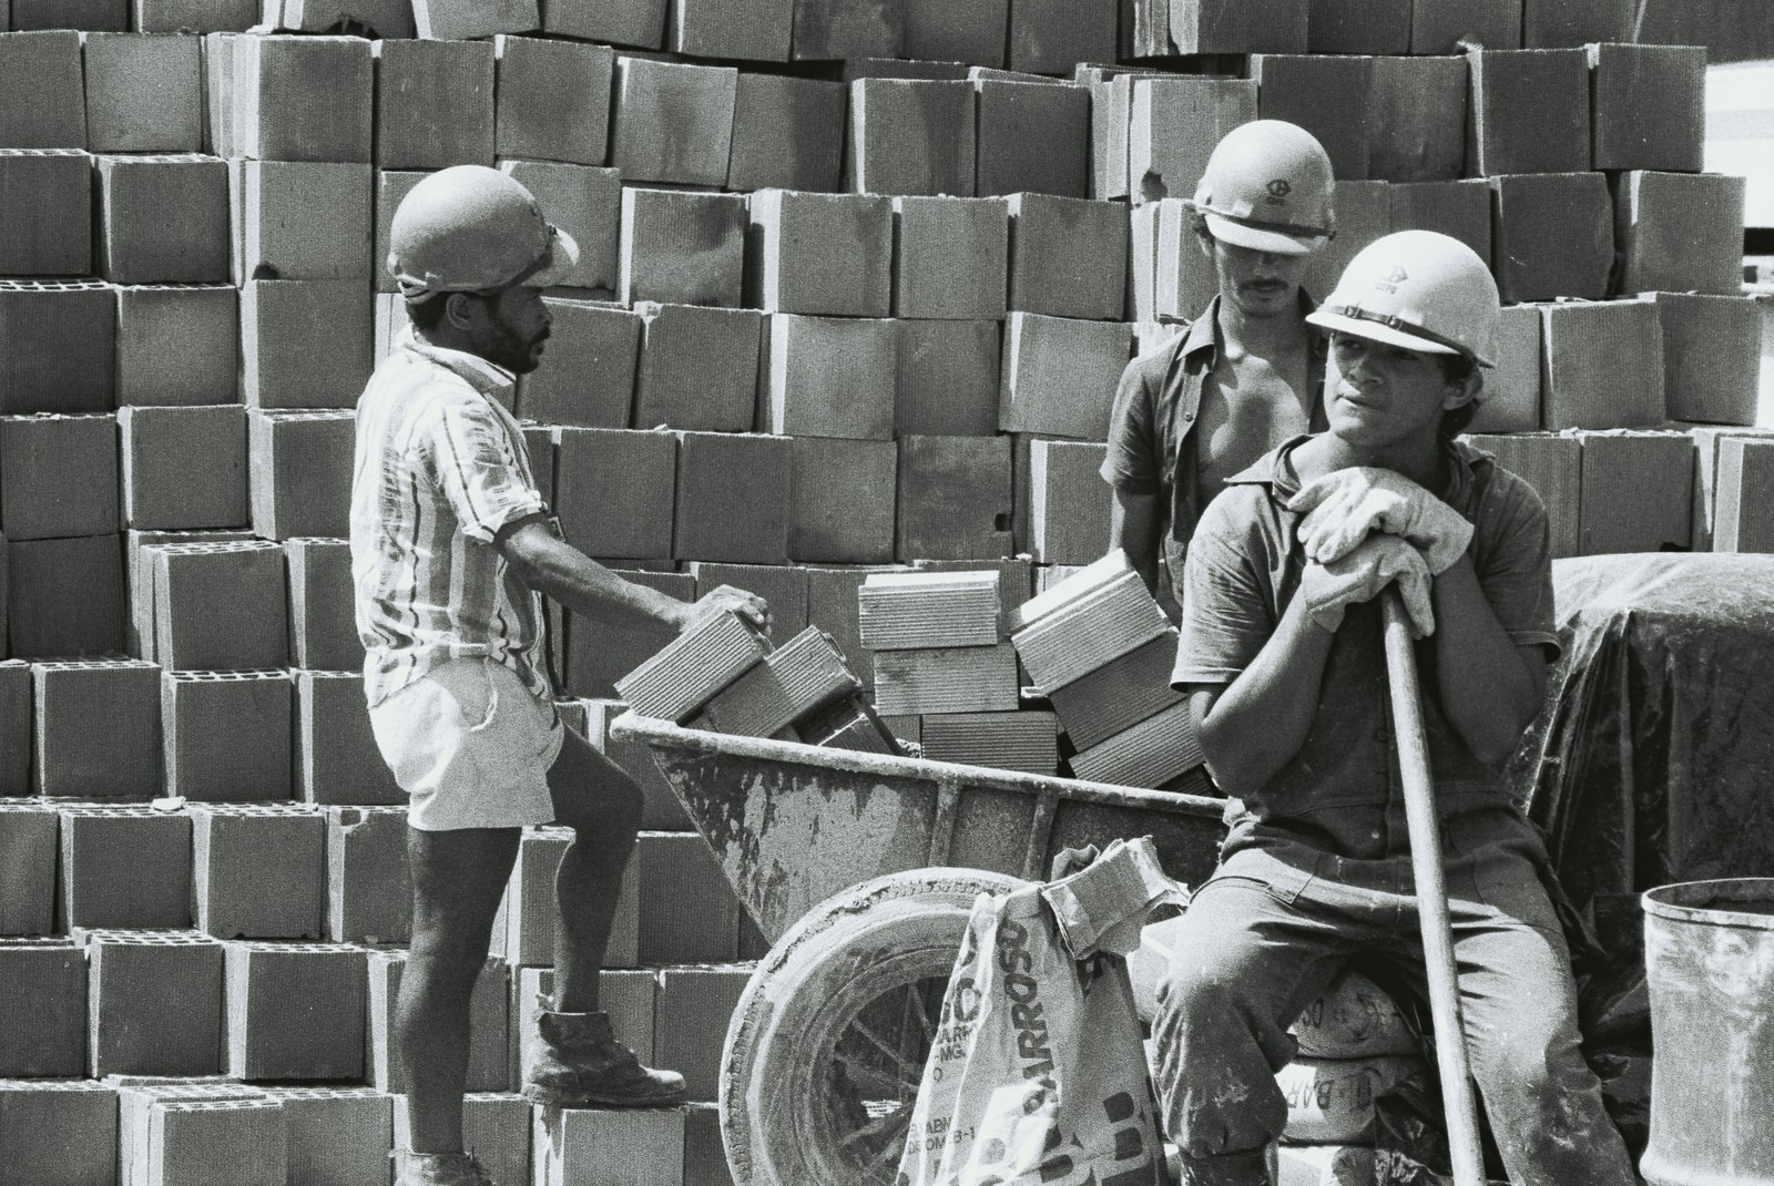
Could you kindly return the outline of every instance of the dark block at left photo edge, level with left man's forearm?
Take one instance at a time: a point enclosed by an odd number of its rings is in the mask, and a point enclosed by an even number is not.
[[[14,658],[122,649],[122,541],[117,535],[7,542],[7,636]]]

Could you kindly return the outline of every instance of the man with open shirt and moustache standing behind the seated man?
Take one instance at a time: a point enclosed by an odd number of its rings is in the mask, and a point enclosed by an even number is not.
[[[1224,479],[1323,427],[1323,340],[1300,291],[1307,257],[1336,229],[1323,145],[1277,119],[1235,128],[1189,206],[1219,296],[1121,372],[1102,466],[1109,548],[1126,551],[1160,603],[1181,589],[1189,535]]]

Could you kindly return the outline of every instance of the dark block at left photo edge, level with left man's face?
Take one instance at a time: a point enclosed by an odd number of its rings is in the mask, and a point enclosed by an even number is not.
[[[117,303],[99,280],[0,280],[0,413],[110,411]]]

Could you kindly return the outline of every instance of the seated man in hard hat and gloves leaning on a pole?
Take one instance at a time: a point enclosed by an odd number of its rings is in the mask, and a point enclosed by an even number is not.
[[[1229,479],[1183,574],[1173,686],[1231,796],[1221,865],[1158,993],[1158,1092],[1192,1186],[1268,1182],[1288,1025],[1364,952],[1425,982],[1375,597],[1414,624],[1474,1080],[1519,1186],[1630,1186],[1577,1049],[1577,995],[1538,833],[1497,769],[1558,654],[1547,514],[1455,440],[1485,397],[1497,285],[1426,232],[1362,250],[1311,316],[1329,431]]]

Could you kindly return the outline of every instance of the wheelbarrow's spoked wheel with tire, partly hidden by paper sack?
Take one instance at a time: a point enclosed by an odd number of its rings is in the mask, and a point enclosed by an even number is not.
[[[722,1053],[736,1186],[892,1186],[974,899],[1018,885],[889,874],[820,902],[770,948]]]

